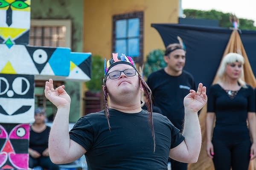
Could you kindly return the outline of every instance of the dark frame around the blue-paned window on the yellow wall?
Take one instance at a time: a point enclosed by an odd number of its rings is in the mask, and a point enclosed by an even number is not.
[[[139,56],[132,57],[136,63],[139,65],[143,64],[143,23],[144,23],[144,13],[143,11],[116,14],[112,17],[112,51],[116,50],[116,21],[117,20],[128,20],[132,18],[139,18],[140,20],[140,31],[139,31]]]

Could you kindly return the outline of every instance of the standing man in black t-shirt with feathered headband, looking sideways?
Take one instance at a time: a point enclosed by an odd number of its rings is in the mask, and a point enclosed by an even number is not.
[[[180,44],[173,43],[167,46],[164,61],[167,66],[152,73],[147,84],[152,91],[153,103],[159,107],[181,132],[184,124],[183,99],[189,90],[195,90],[194,78],[183,70],[186,61],[186,51],[182,40]],[[187,164],[169,159],[172,170],[186,170]]]

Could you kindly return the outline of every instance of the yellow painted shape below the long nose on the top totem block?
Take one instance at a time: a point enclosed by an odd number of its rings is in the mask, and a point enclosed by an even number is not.
[[[4,39],[7,39],[8,37],[11,37],[12,39],[15,39],[16,37],[20,36],[23,32],[27,31],[26,28],[6,28],[6,27],[0,27],[0,36]]]

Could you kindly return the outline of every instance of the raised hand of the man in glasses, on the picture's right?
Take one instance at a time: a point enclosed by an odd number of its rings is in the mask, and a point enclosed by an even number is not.
[[[207,102],[206,87],[199,83],[198,90],[190,90],[190,93],[184,98],[184,107],[191,111],[198,112]]]

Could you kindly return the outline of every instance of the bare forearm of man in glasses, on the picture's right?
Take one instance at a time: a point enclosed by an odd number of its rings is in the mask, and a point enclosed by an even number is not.
[[[201,128],[198,114],[185,108],[185,122],[183,136],[189,155],[198,158],[201,149]]]

